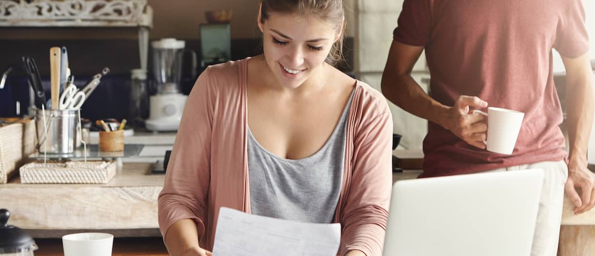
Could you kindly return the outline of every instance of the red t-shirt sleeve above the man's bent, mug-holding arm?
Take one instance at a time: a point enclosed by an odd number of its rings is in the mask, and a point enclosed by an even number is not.
[[[393,39],[406,45],[425,46],[430,41],[430,0],[405,0]]]

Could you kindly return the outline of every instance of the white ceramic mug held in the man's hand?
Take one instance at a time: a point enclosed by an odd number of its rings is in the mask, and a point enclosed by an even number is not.
[[[512,154],[525,113],[493,107],[488,108],[487,113],[481,110],[473,110],[473,112],[488,116],[487,141],[484,141],[487,150],[500,154]]]

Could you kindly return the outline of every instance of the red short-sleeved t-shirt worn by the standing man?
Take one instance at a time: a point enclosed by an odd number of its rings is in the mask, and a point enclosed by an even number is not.
[[[525,113],[511,155],[491,153],[430,122],[420,177],[455,175],[565,159],[552,48],[588,50],[581,0],[405,0],[394,40],[424,46],[430,94],[453,106],[477,96]]]

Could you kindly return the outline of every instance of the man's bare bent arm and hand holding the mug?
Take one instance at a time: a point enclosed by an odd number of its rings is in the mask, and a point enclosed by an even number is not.
[[[478,97],[459,96],[453,107],[432,99],[411,77],[423,46],[411,46],[393,41],[384,67],[381,88],[384,96],[405,111],[434,122],[478,148],[485,148],[487,124],[484,116],[469,113],[469,108],[486,108],[487,102]]]

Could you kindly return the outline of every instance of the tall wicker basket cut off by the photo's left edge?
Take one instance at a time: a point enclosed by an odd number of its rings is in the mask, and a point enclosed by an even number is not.
[[[0,184],[7,183],[27,157],[35,153],[35,144],[35,122],[0,127]]]

